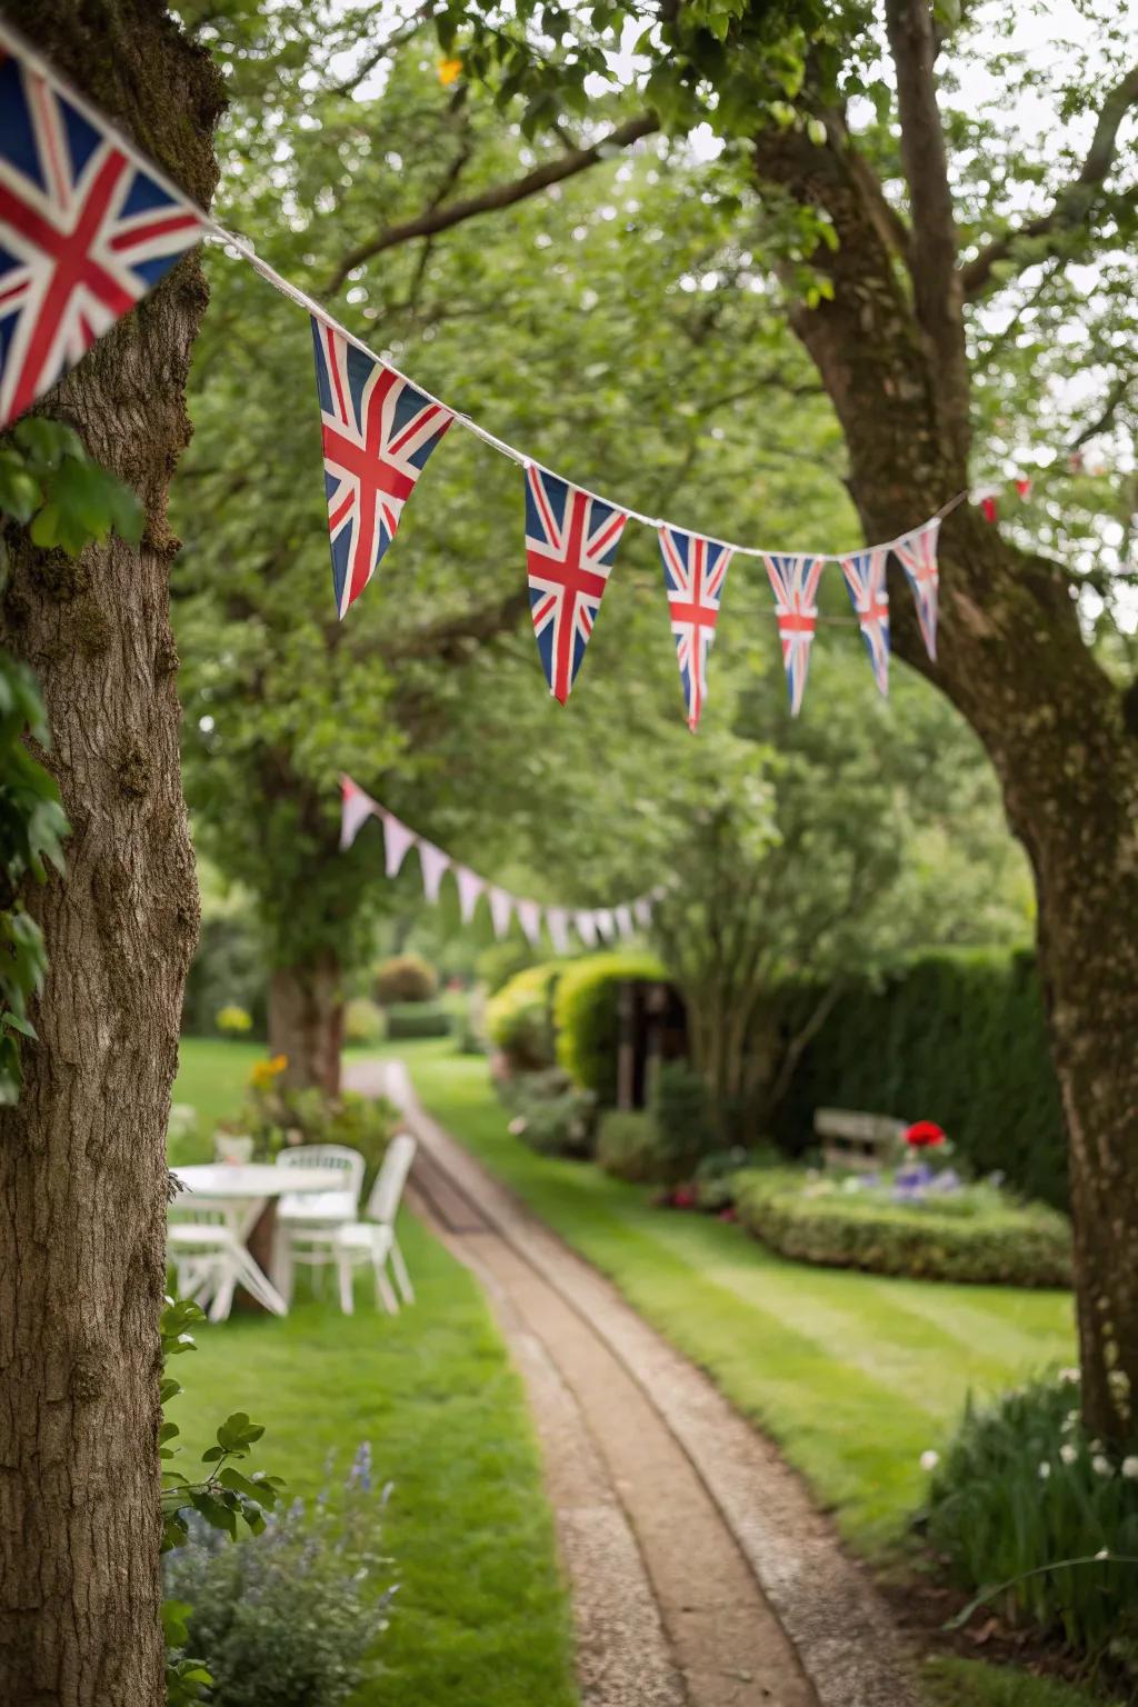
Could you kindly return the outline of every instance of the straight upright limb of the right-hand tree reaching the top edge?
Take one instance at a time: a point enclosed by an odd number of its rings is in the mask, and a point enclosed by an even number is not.
[[[967,355],[957,273],[955,212],[937,106],[937,41],[928,0],[885,0],[889,50],[897,68],[901,160],[909,184],[913,306],[938,372],[945,422],[967,442]]]

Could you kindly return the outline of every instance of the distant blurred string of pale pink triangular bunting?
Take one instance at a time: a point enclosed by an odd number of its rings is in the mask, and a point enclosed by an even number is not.
[[[462,923],[471,923],[479,900],[486,896],[490,922],[498,939],[507,935],[510,922],[517,918],[522,935],[531,947],[539,946],[544,929],[556,953],[565,954],[570,947],[570,929],[573,929],[580,942],[587,949],[592,949],[599,941],[613,942],[616,937],[633,937],[636,930],[645,930],[652,922],[652,906],[664,893],[662,889],[652,889],[648,894],[638,894],[635,901],[621,901],[618,906],[578,908],[575,912],[565,906],[543,906],[541,901],[531,901],[527,896],[512,894],[500,884],[488,883],[486,877],[479,877],[469,865],[450,859],[440,847],[435,847],[427,836],[408,828],[401,818],[396,818],[386,806],[380,806],[370,794],[365,794],[351,777],[345,775],[340,778],[340,799],[341,854],[348,852],[369,818],[377,818],[384,826],[384,871],[387,877],[398,877],[403,862],[411,848],[415,848],[420,857],[423,898],[437,903],[442,893],[442,879],[450,872],[459,894]]]

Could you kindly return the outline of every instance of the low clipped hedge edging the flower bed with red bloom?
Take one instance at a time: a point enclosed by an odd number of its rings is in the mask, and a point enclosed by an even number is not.
[[[865,1268],[914,1280],[988,1285],[1070,1285],[1071,1229],[1042,1203],[856,1202],[850,1193],[807,1197],[802,1174],[735,1174],[739,1221],[780,1256],[824,1268]]]

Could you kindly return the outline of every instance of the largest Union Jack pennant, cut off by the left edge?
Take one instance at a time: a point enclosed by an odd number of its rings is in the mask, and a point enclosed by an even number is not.
[[[0,29],[0,428],[201,236],[165,189]]]

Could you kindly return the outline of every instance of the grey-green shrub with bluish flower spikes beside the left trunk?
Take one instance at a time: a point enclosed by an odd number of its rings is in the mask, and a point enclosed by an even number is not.
[[[186,1651],[213,1676],[212,1707],[343,1707],[375,1675],[391,1599],[384,1497],[363,1448],[336,1516],[322,1494],[270,1516],[253,1541],[195,1524],[169,1555],[167,1593],[188,1606]]]

